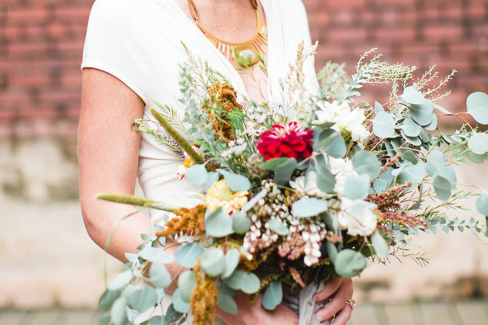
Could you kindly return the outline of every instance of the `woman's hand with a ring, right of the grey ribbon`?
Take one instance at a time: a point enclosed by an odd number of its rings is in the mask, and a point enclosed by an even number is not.
[[[315,313],[317,319],[324,321],[335,315],[332,325],[346,325],[352,313],[352,307],[346,302],[352,298],[352,293],[351,279],[333,278],[327,281],[324,289],[317,294],[316,301],[322,302],[330,297],[332,299]]]

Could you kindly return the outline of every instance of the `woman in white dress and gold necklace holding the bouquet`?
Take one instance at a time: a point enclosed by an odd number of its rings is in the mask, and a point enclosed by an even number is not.
[[[104,247],[117,219],[134,210],[97,201],[95,194],[133,194],[136,177],[147,198],[195,205],[196,188],[177,175],[181,159],[147,134],[131,129],[136,118],[154,120],[150,108],[155,102],[178,107],[179,65],[187,57],[181,42],[222,73],[240,100],[275,103],[280,98],[279,80],[286,77],[303,41],[311,44],[299,0],[97,0],[81,65],[79,124],[80,199],[90,237]],[[312,57],[304,71],[313,92],[317,80]],[[109,253],[125,262],[125,253],[135,251],[140,235],[164,222],[163,216],[154,210],[150,218],[135,214],[120,222]],[[176,245],[167,251],[175,249]],[[180,266],[174,263],[169,269],[176,276]],[[317,311],[317,319],[336,315],[332,323],[345,324],[352,312],[352,282],[336,278],[325,283],[317,301],[329,298]],[[220,323],[298,323],[284,305],[269,312],[243,295],[235,299],[238,314],[220,311]]]

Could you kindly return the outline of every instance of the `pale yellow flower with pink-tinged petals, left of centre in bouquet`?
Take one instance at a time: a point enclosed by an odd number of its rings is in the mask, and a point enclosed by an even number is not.
[[[248,191],[232,191],[225,179],[221,179],[207,190],[205,203],[210,212],[221,207],[225,212],[232,214],[248,203],[248,194]]]

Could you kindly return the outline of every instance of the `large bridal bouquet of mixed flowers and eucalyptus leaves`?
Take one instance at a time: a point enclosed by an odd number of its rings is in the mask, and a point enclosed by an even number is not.
[[[302,67],[311,48],[299,46],[296,62],[282,81],[280,105],[241,103],[223,76],[188,53],[181,67],[181,105],[159,105],[159,123],[136,120],[141,132],[182,159],[181,181],[201,188],[201,203],[173,207],[168,202],[101,194],[100,199],[168,211],[138,253],[127,253],[125,271],[100,299],[111,314],[102,322],[211,324],[216,308],[237,313],[233,296],[242,291],[272,310],[284,302],[300,324],[318,324],[315,294],[330,277],[358,276],[367,260],[388,263],[412,258],[409,248],[419,231],[454,229],[486,234],[472,218],[449,219],[460,200],[479,195],[476,207],[488,215],[488,193],[459,187],[453,165],[488,159],[488,134],[470,125],[488,124],[488,95],[471,94],[466,113],[439,106],[449,92],[435,85],[434,67],[414,79],[415,67],[389,64],[375,50],[359,60],[348,77],[332,62],[319,74],[320,93],[303,86]],[[245,62],[243,62],[245,63]],[[262,67],[265,69],[264,67]],[[367,84],[390,84],[389,100],[360,101]],[[463,125],[451,134],[438,118],[457,116]],[[427,199],[429,204],[424,203]],[[179,245],[165,252],[166,239]],[[174,244],[172,244],[174,245]],[[172,282],[166,264],[181,265],[172,304],[164,315],[152,313]]]

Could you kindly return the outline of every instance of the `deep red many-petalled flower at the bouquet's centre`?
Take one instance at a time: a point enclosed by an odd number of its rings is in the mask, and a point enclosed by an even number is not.
[[[312,154],[313,137],[312,130],[301,129],[296,122],[287,126],[275,124],[262,134],[257,148],[266,160],[280,157],[304,159]]]

